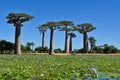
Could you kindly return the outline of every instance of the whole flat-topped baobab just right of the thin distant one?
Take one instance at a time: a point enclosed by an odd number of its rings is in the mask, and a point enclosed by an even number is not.
[[[45,28],[50,29],[50,50],[49,50],[49,55],[52,55],[54,53],[54,48],[53,48],[53,39],[54,39],[54,30],[58,29],[60,24],[58,22],[47,22]]]

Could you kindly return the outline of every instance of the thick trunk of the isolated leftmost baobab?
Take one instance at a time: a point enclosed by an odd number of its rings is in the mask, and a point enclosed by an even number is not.
[[[14,46],[14,54],[21,54],[21,45],[20,45],[20,33],[21,27],[15,27],[15,46]]]

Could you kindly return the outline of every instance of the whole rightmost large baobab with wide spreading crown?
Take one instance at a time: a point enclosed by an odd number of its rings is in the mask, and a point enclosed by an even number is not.
[[[83,34],[83,49],[84,49],[84,53],[88,53],[88,34],[87,33],[95,30],[96,27],[94,27],[90,23],[83,23],[83,24],[78,24],[74,28],[79,33]]]

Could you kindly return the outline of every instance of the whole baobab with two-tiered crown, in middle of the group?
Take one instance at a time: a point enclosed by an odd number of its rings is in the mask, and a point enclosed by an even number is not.
[[[61,24],[61,26],[63,26],[60,30],[61,31],[65,31],[65,48],[64,51],[65,53],[69,53],[69,47],[68,47],[68,32],[71,30],[70,28],[68,28],[68,26],[73,26],[73,22],[72,21],[60,21],[59,22]]]

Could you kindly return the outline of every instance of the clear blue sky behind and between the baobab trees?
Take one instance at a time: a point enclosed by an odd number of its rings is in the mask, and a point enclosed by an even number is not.
[[[21,44],[34,42],[41,46],[41,35],[36,27],[48,21],[73,21],[74,24],[91,23],[96,30],[88,33],[94,36],[96,45],[108,43],[120,49],[120,0],[1,0],[0,39],[14,42],[15,27],[7,24],[5,18],[10,12],[27,13],[35,18],[23,23]],[[49,47],[49,30],[46,32],[46,46]],[[83,35],[75,32],[73,48],[82,48]],[[54,47],[64,48],[64,32],[54,34]]]

